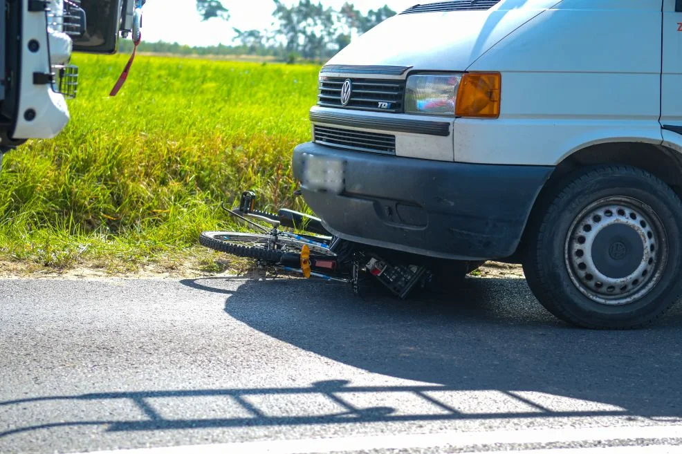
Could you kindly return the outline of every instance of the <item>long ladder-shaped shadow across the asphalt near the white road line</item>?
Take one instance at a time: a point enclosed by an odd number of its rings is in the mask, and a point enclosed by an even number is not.
[[[145,414],[147,419],[122,421],[117,419],[84,420],[53,422],[35,426],[23,426],[0,432],[0,439],[10,435],[54,428],[68,428],[77,426],[107,426],[109,432],[134,432],[134,431],[167,431],[178,429],[201,429],[201,428],[239,428],[248,426],[299,426],[311,424],[353,424],[353,423],[376,423],[376,422],[445,422],[452,420],[485,420],[485,419],[523,419],[537,417],[603,417],[630,415],[623,408],[611,406],[596,406],[591,403],[591,408],[560,410],[546,408],[535,402],[537,398],[555,399],[551,396],[528,395],[524,392],[495,392],[488,396],[481,396],[483,400],[494,399],[499,404],[515,410],[504,411],[496,408],[494,412],[486,413],[463,413],[457,408],[457,392],[459,388],[450,386],[350,386],[348,381],[330,380],[320,381],[307,388],[248,388],[248,389],[220,389],[220,390],[168,390],[168,391],[145,391],[145,392],[97,392],[83,395],[50,396],[14,401],[0,402],[0,410],[3,407],[26,406],[28,404],[47,404],[50,406],[60,404],[80,403],[102,407],[116,408],[125,404],[124,401],[132,402]],[[197,399],[210,397],[213,399],[230,398],[240,407],[239,415],[234,415],[232,408],[225,408],[221,417],[201,418],[165,418],[162,413],[155,409],[155,401],[172,399],[180,404],[183,399]],[[366,397],[368,401],[375,401],[383,397],[390,397],[396,402],[392,406],[358,406],[357,402]],[[412,398],[412,401],[410,401]],[[432,408],[423,410],[410,407],[405,402],[414,404],[414,398],[423,401]],[[282,415],[266,415],[264,410],[252,401],[268,401],[275,399],[286,406],[288,401],[297,401],[298,408],[285,409]],[[320,413],[320,408],[306,407],[308,404],[320,404],[326,399],[327,406],[332,404],[334,408]],[[356,403],[353,403],[353,400]],[[402,402],[402,404],[401,404]],[[454,405],[452,405],[454,403]],[[564,405],[575,407],[575,402],[564,401]],[[173,406],[171,403],[170,406]],[[282,408],[280,406],[280,408]],[[488,407],[489,408],[489,407]],[[422,410],[422,411],[420,411]],[[115,412],[112,412],[115,413]],[[232,413],[232,415],[230,415]],[[299,413],[295,415],[295,413]],[[311,413],[317,413],[311,415]],[[187,415],[189,416],[189,415]]]

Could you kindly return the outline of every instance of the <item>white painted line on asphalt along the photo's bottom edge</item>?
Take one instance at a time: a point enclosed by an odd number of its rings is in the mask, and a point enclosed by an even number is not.
[[[569,428],[533,431],[448,432],[433,434],[376,435],[329,439],[295,439],[268,442],[174,446],[125,451],[98,451],[93,454],[326,454],[373,449],[486,447],[505,444],[548,444],[569,442],[612,442],[635,439],[682,439],[682,426]],[[596,451],[597,450],[597,451]],[[521,451],[532,454],[682,454],[682,446],[636,446]],[[517,451],[519,452],[519,451]]]

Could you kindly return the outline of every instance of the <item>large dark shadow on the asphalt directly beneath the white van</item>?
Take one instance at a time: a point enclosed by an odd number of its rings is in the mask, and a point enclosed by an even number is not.
[[[646,330],[593,331],[554,319],[520,279],[468,279],[454,297],[403,302],[380,291],[358,299],[344,285],[248,281],[227,299],[225,312],[369,372],[451,390],[544,393],[633,415],[682,417],[680,305]]]

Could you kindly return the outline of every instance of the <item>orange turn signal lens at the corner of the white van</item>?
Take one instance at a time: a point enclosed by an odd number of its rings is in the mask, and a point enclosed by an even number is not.
[[[466,73],[459,84],[455,115],[458,117],[497,118],[502,76],[499,73]]]

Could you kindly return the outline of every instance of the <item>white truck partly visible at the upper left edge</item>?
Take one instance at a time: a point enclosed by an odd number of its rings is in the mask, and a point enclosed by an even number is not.
[[[9,149],[64,129],[78,83],[71,53],[116,53],[119,32],[139,39],[143,3],[0,0],[0,164]]]

